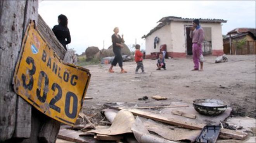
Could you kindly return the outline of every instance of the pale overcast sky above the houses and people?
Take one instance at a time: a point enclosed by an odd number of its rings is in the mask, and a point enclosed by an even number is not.
[[[224,19],[222,34],[237,27],[255,28],[255,0],[251,1],[67,1],[39,0],[39,14],[50,28],[57,17],[68,18],[71,34],[69,48],[81,54],[87,47],[108,48],[114,27],[124,34],[125,44],[145,49],[141,37],[157,25],[162,17]],[[104,42],[103,42],[104,41]],[[104,43],[104,44],[103,44]]]

